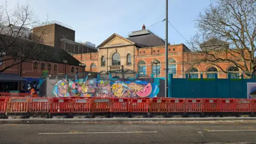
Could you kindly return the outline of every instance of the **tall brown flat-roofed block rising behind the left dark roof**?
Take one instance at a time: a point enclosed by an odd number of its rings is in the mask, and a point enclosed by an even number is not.
[[[43,36],[42,33],[44,33]],[[49,22],[44,26],[34,27],[33,34],[38,37],[42,37],[41,43],[58,47],[70,54],[91,53],[98,51],[95,45],[91,44],[90,42],[76,42],[75,30],[57,21]]]

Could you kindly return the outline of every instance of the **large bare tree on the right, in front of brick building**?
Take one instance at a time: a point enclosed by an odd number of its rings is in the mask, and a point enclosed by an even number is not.
[[[209,63],[223,72],[219,63],[231,63],[247,77],[256,71],[256,1],[216,0],[196,21],[197,34],[187,53],[189,65]],[[210,41],[208,41],[211,39]]]

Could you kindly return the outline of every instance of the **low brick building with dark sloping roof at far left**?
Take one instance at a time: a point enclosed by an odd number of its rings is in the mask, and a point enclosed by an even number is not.
[[[27,50],[34,46],[33,42],[24,39],[20,39],[20,41],[28,43],[26,46]],[[2,43],[0,45],[2,45]],[[13,44],[12,47],[7,49],[4,57],[1,57],[6,60],[0,62],[0,69],[11,66],[13,59],[7,59],[15,57],[19,51],[20,47],[16,44]],[[25,55],[28,53],[25,52]],[[35,50],[33,53],[30,53],[26,61],[12,66],[6,69],[3,73],[0,73],[0,91],[22,90],[23,84],[38,84],[39,77],[42,77],[43,71],[51,76],[57,74],[75,75],[75,73],[82,73],[83,68],[79,66],[79,63],[78,60],[62,49],[44,44],[37,44]]]

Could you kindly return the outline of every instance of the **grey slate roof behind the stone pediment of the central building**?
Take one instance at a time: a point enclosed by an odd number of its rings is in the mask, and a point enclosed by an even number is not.
[[[130,41],[134,42],[135,45],[138,45],[139,47],[165,45],[165,41],[154,34],[127,37],[126,39],[129,39]]]

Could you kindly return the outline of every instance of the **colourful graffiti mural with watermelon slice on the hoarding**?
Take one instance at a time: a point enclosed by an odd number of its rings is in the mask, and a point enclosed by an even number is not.
[[[56,97],[157,97],[159,87],[146,81],[62,79],[52,92]]]

